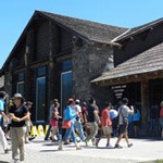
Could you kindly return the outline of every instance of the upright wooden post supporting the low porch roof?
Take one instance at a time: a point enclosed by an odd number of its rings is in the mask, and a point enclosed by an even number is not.
[[[149,80],[141,82],[141,131],[147,134],[147,122],[148,122],[148,110],[149,110]]]

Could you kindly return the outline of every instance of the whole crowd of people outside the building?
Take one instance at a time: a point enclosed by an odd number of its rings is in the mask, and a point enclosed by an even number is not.
[[[12,159],[14,162],[25,160],[24,146],[35,137],[30,137],[30,108],[33,102],[24,100],[21,93],[15,93],[12,101],[9,101],[8,114],[4,112],[4,103],[8,95],[0,91],[0,141],[2,142],[4,153],[12,150]],[[96,103],[96,99],[90,98],[88,103],[80,100],[70,98],[63,111],[60,113],[60,103],[58,99],[52,101],[49,109],[49,128],[45,136],[45,140],[49,137],[51,141],[58,141],[59,150],[67,143],[74,142],[76,150],[80,150],[79,141],[85,142],[86,147],[99,146],[101,138],[106,138],[105,148],[123,148],[120,143],[125,138],[128,148],[133,146],[128,140],[130,128],[134,136],[139,133],[140,112],[136,106],[128,106],[128,99],[124,98],[118,108],[114,109],[111,102],[105,102],[102,110]],[[3,123],[2,123],[3,122]],[[60,122],[62,125],[60,127]],[[8,124],[8,126],[4,126]],[[160,110],[161,136],[163,138],[163,102]],[[7,129],[3,129],[7,128]],[[61,129],[62,128],[62,129]],[[9,129],[12,146],[9,147]],[[78,139],[78,137],[79,139]],[[111,138],[117,137],[115,145],[111,143]]]

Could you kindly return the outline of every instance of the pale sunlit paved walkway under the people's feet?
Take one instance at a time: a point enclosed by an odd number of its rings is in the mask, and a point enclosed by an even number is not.
[[[111,139],[114,145],[116,138]],[[99,143],[99,148],[91,146],[86,148],[82,142],[82,150],[76,151],[74,145],[65,146],[63,151],[58,151],[58,142],[45,141],[43,138],[36,138],[25,145],[25,163],[140,163],[154,162],[163,159],[163,140],[155,139],[130,139],[134,143],[127,148],[125,140],[122,140],[123,149],[105,149],[105,139]],[[0,146],[0,163],[11,162],[11,152],[3,154]]]

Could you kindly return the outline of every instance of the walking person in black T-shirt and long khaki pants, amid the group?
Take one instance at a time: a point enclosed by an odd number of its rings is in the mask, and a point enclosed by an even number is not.
[[[100,124],[100,117],[98,114],[99,110],[96,104],[96,100],[91,98],[89,100],[89,105],[88,105],[88,125],[90,128],[90,133],[85,139],[85,143],[88,147],[88,142],[91,139],[92,143],[95,145],[96,142],[96,135],[98,134],[98,124]]]

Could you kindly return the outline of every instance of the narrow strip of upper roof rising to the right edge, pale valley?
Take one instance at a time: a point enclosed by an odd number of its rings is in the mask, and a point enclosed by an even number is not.
[[[156,26],[160,23],[163,23],[163,18],[159,18],[156,21],[147,23],[145,25],[140,25],[138,27],[130,28],[127,32],[125,32],[124,34],[122,34],[122,35],[117,36],[116,38],[114,38],[112,41],[113,42],[118,42],[118,41],[128,39],[129,37],[133,37],[133,36],[137,35],[137,34],[140,34],[140,33],[142,33],[145,30],[148,30],[148,29]]]

